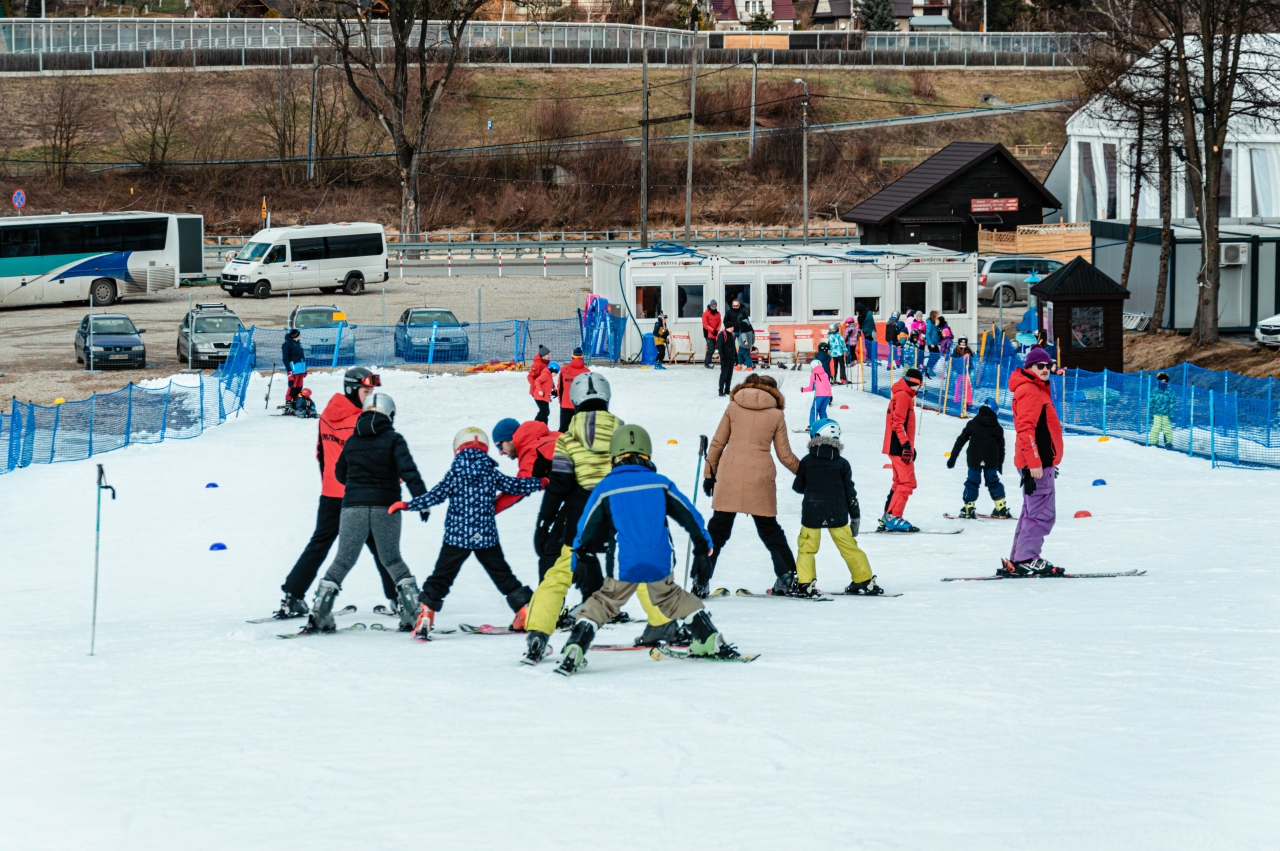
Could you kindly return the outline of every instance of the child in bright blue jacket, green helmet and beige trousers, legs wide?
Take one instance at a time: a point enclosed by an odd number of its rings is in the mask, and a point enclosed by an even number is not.
[[[586,650],[595,631],[617,617],[641,584],[646,586],[649,601],[664,616],[676,621],[689,618],[692,655],[726,659],[739,655],[721,637],[703,601],[672,581],[676,554],[667,517],[684,526],[694,539],[696,576],[710,572],[714,545],[701,514],[669,479],[658,475],[649,459],[652,454],[648,431],[635,425],[616,430],[609,441],[613,470],[595,485],[582,509],[573,540],[575,568],[579,555],[599,553],[617,537],[618,577],[607,577],[600,590],[582,604],[564,644],[564,660],[557,668],[566,677],[586,664]]]

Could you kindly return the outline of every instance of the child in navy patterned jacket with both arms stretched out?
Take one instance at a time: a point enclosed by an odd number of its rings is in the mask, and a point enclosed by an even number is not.
[[[511,566],[502,554],[498,523],[494,522],[494,499],[499,491],[520,495],[536,493],[543,489],[543,480],[512,479],[498,472],[497,467],[498,462],[489,457],[489,435],[484,429],[466,427],[453,438],[453,465],[440,484],[407,505],[396,503],[388,509],[388,513],[393,513],[408,508],[422,512],[422,520],[426,520],[431,505],[449,500],[440,557],[417,596],[413,635],[420,639],[430,636],[435,613],[444,607],[444,598],[448,596],[453,580],[472,553],[516,613],[511,628],[525,628],[526,607],[534,593],[512,575]]]

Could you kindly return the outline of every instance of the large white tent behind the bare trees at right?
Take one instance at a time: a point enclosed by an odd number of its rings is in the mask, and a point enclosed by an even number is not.
[[[1280,102],[1276,56],[1280,56],[1280,37],[1254,36],[1247,41],[1240,63],[1242,67],[1252,65],[1245,72],[1249,83],[1272,90],[1270,99]],[[1148,134],[1155,131],[1148,128]],[[1133,193],[1137,129],[1110,118],[1106,104],[1093,99],[1068,119],[1066,139],[1064,156],[1070,164],[1068,221],[1126,221]],[[1179,132],[1175,132],[1172,143],[1181,145]],[[1176,155],[1172,161],[1172,218],[1194,218],[1187,170]],[[1151,166],[1147,173],[1149,179],[1143,177],[1138,197],[1138,218],[1158,219],[1157,175]],[[1222,219],[1280,216],[1280,110],[1262,120],[1238,119],[1228,128],[1219,215]]]

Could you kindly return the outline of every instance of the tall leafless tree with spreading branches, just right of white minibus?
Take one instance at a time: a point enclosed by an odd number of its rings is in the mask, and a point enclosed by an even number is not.
[[[401,178],[401,233],[420,233],[419,174],[462,35],[485,0],[384,0],[374,19],[361,0],[298,9],[337,54],[356,99],[390,137]]]

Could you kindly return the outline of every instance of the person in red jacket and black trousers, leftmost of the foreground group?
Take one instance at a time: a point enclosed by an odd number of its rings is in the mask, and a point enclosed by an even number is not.
[[[342,378],[342,393],[334,393],[320,415],[320,429],[316,436],[316,461],[320,463],[320,507],[316,509],[316,527],[311,532],[298,561],[293,563],[293,569],[284,580],[280,590],[284,599],[276,610],[278,619],[298,618],[306,616],[310,609],[305,598],[311,584],[315,582],[320,566],[329,557],[329,549],[338,540],[338,527],[342,520],[342,499],[347,490],[338,481],[338,457],[343,447],[356,430],[356,420],[365,407],[365,399],[381,384],[378,374],[362,366],[347,370]],[[399,603],[396,594],[396,584],[378,558],[378,544],[372,532],[365,537],[369,554],[374,557],[378,575],[383,578],[383,593],[390,600],[392,609],[397,609]]]

